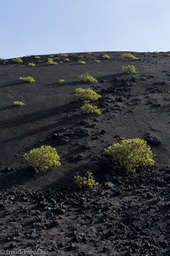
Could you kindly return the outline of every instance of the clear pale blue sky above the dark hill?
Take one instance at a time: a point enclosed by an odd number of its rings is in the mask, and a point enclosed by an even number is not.
[[[0,0],[0,57],[170,50],[170,0]]]

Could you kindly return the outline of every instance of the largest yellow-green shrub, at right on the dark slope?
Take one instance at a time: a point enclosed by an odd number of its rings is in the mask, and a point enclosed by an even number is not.
[[[127,172],[136,172],[139,166],[153,166],[153,158],[150,146],[144,139],[122,139],[120,143],[115,143],[105,148],[105,154],[111,155],[117,167],[124,167]]]

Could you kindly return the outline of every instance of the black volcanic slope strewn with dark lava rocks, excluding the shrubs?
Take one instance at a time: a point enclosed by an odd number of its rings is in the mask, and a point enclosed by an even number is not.
[[[130,61],[122,52],[107,52],[109,60],[104,54],[53,55],[56,66],[47,65],[49,55],[23,57],[23,64],[0,60],[3,255],[38,248],[50,256],[170,255],[170,55],[134,53],[139,61]],[[122,73],[128,64],[139,73]],[[82,73],[99,83],[83,84]],[[21,76],[36,83],[23,83]],[[101,94],[101,116],[82,113],[78,87]],[[14,107],[14,101],[26,106]],[[156,166],[135,175],[112,169],[103,149],[120,137],[145,138]],[[23,159],[40,145],[56,147],[62,162],[42,176]],[[77,189],[75,173],[88,170],[99,188]]]

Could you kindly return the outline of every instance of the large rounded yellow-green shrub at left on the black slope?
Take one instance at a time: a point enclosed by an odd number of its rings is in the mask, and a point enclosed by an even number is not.
[[[56,148],[51,146],[33,148],[24,157],[28,165],[32,166],[36,172],[47,172],[53,167],[61,166],[59,154]]]

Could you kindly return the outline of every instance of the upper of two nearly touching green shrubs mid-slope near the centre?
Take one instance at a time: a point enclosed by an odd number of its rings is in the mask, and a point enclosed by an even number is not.
[[[101,96],[97,92],[95,92],[90,88],[87,88],[87,89],[77,88],[76,96],[81,101],[84,101],[84,102],[95,102],[101,98]]]

